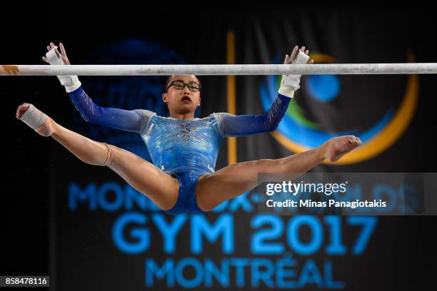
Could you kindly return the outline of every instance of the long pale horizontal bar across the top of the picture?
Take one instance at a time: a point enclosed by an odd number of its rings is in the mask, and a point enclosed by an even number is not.
[[[0,76],[374,75],[437,73],[437,63],[311,65],[0,65]]]

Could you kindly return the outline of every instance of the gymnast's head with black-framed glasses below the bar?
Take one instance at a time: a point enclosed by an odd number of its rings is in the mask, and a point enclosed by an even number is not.
[[[166,86],[167,91],[162,93],[162,100],[169,106],[170,113],[194,113],[200,106],[200,84],[196,76],[171,76]]]

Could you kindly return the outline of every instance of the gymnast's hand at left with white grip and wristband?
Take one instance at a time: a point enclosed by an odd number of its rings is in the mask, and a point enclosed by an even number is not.
[[[58,47],[54,45],[53,42],[47,46],[46,56],[43,56],[42,59],[51,65],[70,65],[70,61],[68,56],[66,55],[66,51],[64,45],[59,43],[59,47],[61,48],[61,53],[58,51]],[[57,76],[61,85],[65,87],[65,91],[67,93],[75,91],[77,88],[81,86],[81,82],[77,76]]]

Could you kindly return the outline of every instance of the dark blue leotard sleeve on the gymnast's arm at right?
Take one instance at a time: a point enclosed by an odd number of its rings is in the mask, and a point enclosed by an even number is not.
[[[268,111],[261,115],[233,115],[214,113],[223,137],[248,136],[274,131],[286,113],[291,98],[278,94]]]

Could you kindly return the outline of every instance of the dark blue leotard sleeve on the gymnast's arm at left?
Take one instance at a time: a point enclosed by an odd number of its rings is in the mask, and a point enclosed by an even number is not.
[[[89,98],[82,87],[69,93],[71,101],[76,109],[81,113],[85,121],[110,126],[111,128],[121,129],[122,131],[132,131],[139,133],[144,126],[144,110],[124,110],[119,108],[109,108],[98,106]],[[149,114],[151,115],[151,114]]]

